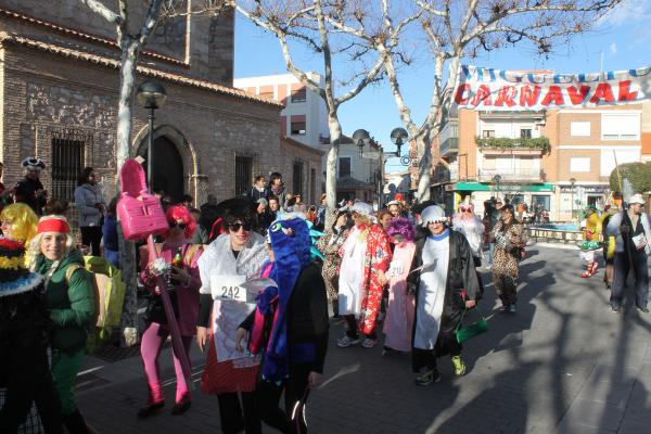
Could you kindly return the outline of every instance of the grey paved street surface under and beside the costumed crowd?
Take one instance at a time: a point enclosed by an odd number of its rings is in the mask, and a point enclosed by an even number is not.
[[[463,378],[454,378],[445,358],[443,381],[418,387],[407,355],[383,357],[380,345],[336,348],[341,327],[333,326],[326,381],[308,403],[311,432],[651,433],[651,316],[630,303],[624,314],[612,314],[601,275],[580,279],[575,251],[528,252],[515,316],[496,314],[487,284],[482,308],[490,330],[465,346]],[[195,347],[192,359],[199,379],[204,359]],[[216,398],[200,391],[190,411],[169,414],[175,384],[168,349],[161,361],[168,405],[138,421],[145,396],[140,359],[88,358],[78,400],[99,432],[220,432]]]

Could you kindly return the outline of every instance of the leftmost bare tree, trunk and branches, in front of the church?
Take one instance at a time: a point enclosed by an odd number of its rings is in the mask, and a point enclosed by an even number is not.
[[[138,26],[139,31],[133,34],[129,29],[136,27],[130,22],[129,11],[135,1],[118,0],[118,12],[112,11],[99,0],[78,0],[92,12],[106,20],[115,26],[117,43],[122,51],[122,65],[119,69],[119,102],[117,111],[117,173],[131,154],[132,132],[132,107],[133,88],[136,84],[136,66],[140,50],[156,27],[161,17],[161,9],[165,0],[151,0],[145,2],[146,13],[142,23]],[[119,264],[123,270],[123,279],[127,285],[125,294],[125,306],[123,308],[123,336],[127,344],[135,344],[137,339],[137,283],[136,283],[136,248],[132,242],[124,239],[122,228],[119,233]]]

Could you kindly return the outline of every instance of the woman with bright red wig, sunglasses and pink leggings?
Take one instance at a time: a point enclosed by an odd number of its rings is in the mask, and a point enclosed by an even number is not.
[[[201,279],[197,261],[202,254],[202,247],[188,242],[196,229],[196,222],[188,208],[181,205],[170,206],[165,216],[169,229],[164,235],[164,242],[156,244],[156,250],[158,257],[167,264],[167,269],[163,270],[157,264],[154,265],[154,258],[149,257],[146,247],[141,248],[140,253],[143,270],[140,279],[152,292],[152,299],[144,315],[145,329],[140,345],[149,387],[148,404],[138,411],[138,417],[141,419],[152,416],[165,406],[163,383],[158,371],[158,355],[163,344],[167,341],[169,329],[159,295],[161,291],[156,285],[157,276],[163,275],[163,279],[167,280],[170,290],[169,298],[188,359],[190,359],[190,344],[195,333],[199,315]],[[180,359],[176,354],[174,354],[174,367],[177,375],[177,391],[171,414],[176,416],[184,413],[190,408],[191,395],[183,378]]]

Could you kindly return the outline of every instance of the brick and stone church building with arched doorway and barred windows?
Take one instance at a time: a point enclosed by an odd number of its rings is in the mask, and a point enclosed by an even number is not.
[[[132,11],[135,24],[139,13]],[[154,187],[201,204],[208,193],[241,194],[255,175],[301,166],[296,188],[316,195],[321,153],[285,149],[282,105],[232,87],[233,31],[232,13],[181,16],[162,23],[141,51],[137,82],[154,78],[167,91],[155,113]],[[119,56],[115,28],[77,0],[1,2],[0,159],[8,188],[22,177],[20,162],[38,155],[51,197],[71,201],[85,166],[94,167],[107,199],[114,194]],[[131,157],[145,157],[148,114],[133,108]]]

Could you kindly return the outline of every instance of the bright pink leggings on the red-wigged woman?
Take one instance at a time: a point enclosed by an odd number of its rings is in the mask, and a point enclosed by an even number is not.
[[[157,322],[150,322],[142,334],[142,342],[140,343],[140,354],[142,355],[142,362],[144,365],[144,374],[146,375],[146,382],[150,393],[150,404],[156,404],[165,400],[163,392],[163,384],[161,384],[161,372],[158,369],[158,355],[161,348],[169,335],[169,330],[161,326]],[[190,359],[190,344],[192,344],[192,336],[181,336],[183,341],[183,348]],[[174,354],[174,369],[177,375],[177,395],[176,401],[182,403],[183,400],[190,400],[191,396],[188,392],[188,385],[183,376],[183,370],[181,369],[181,361]]]

